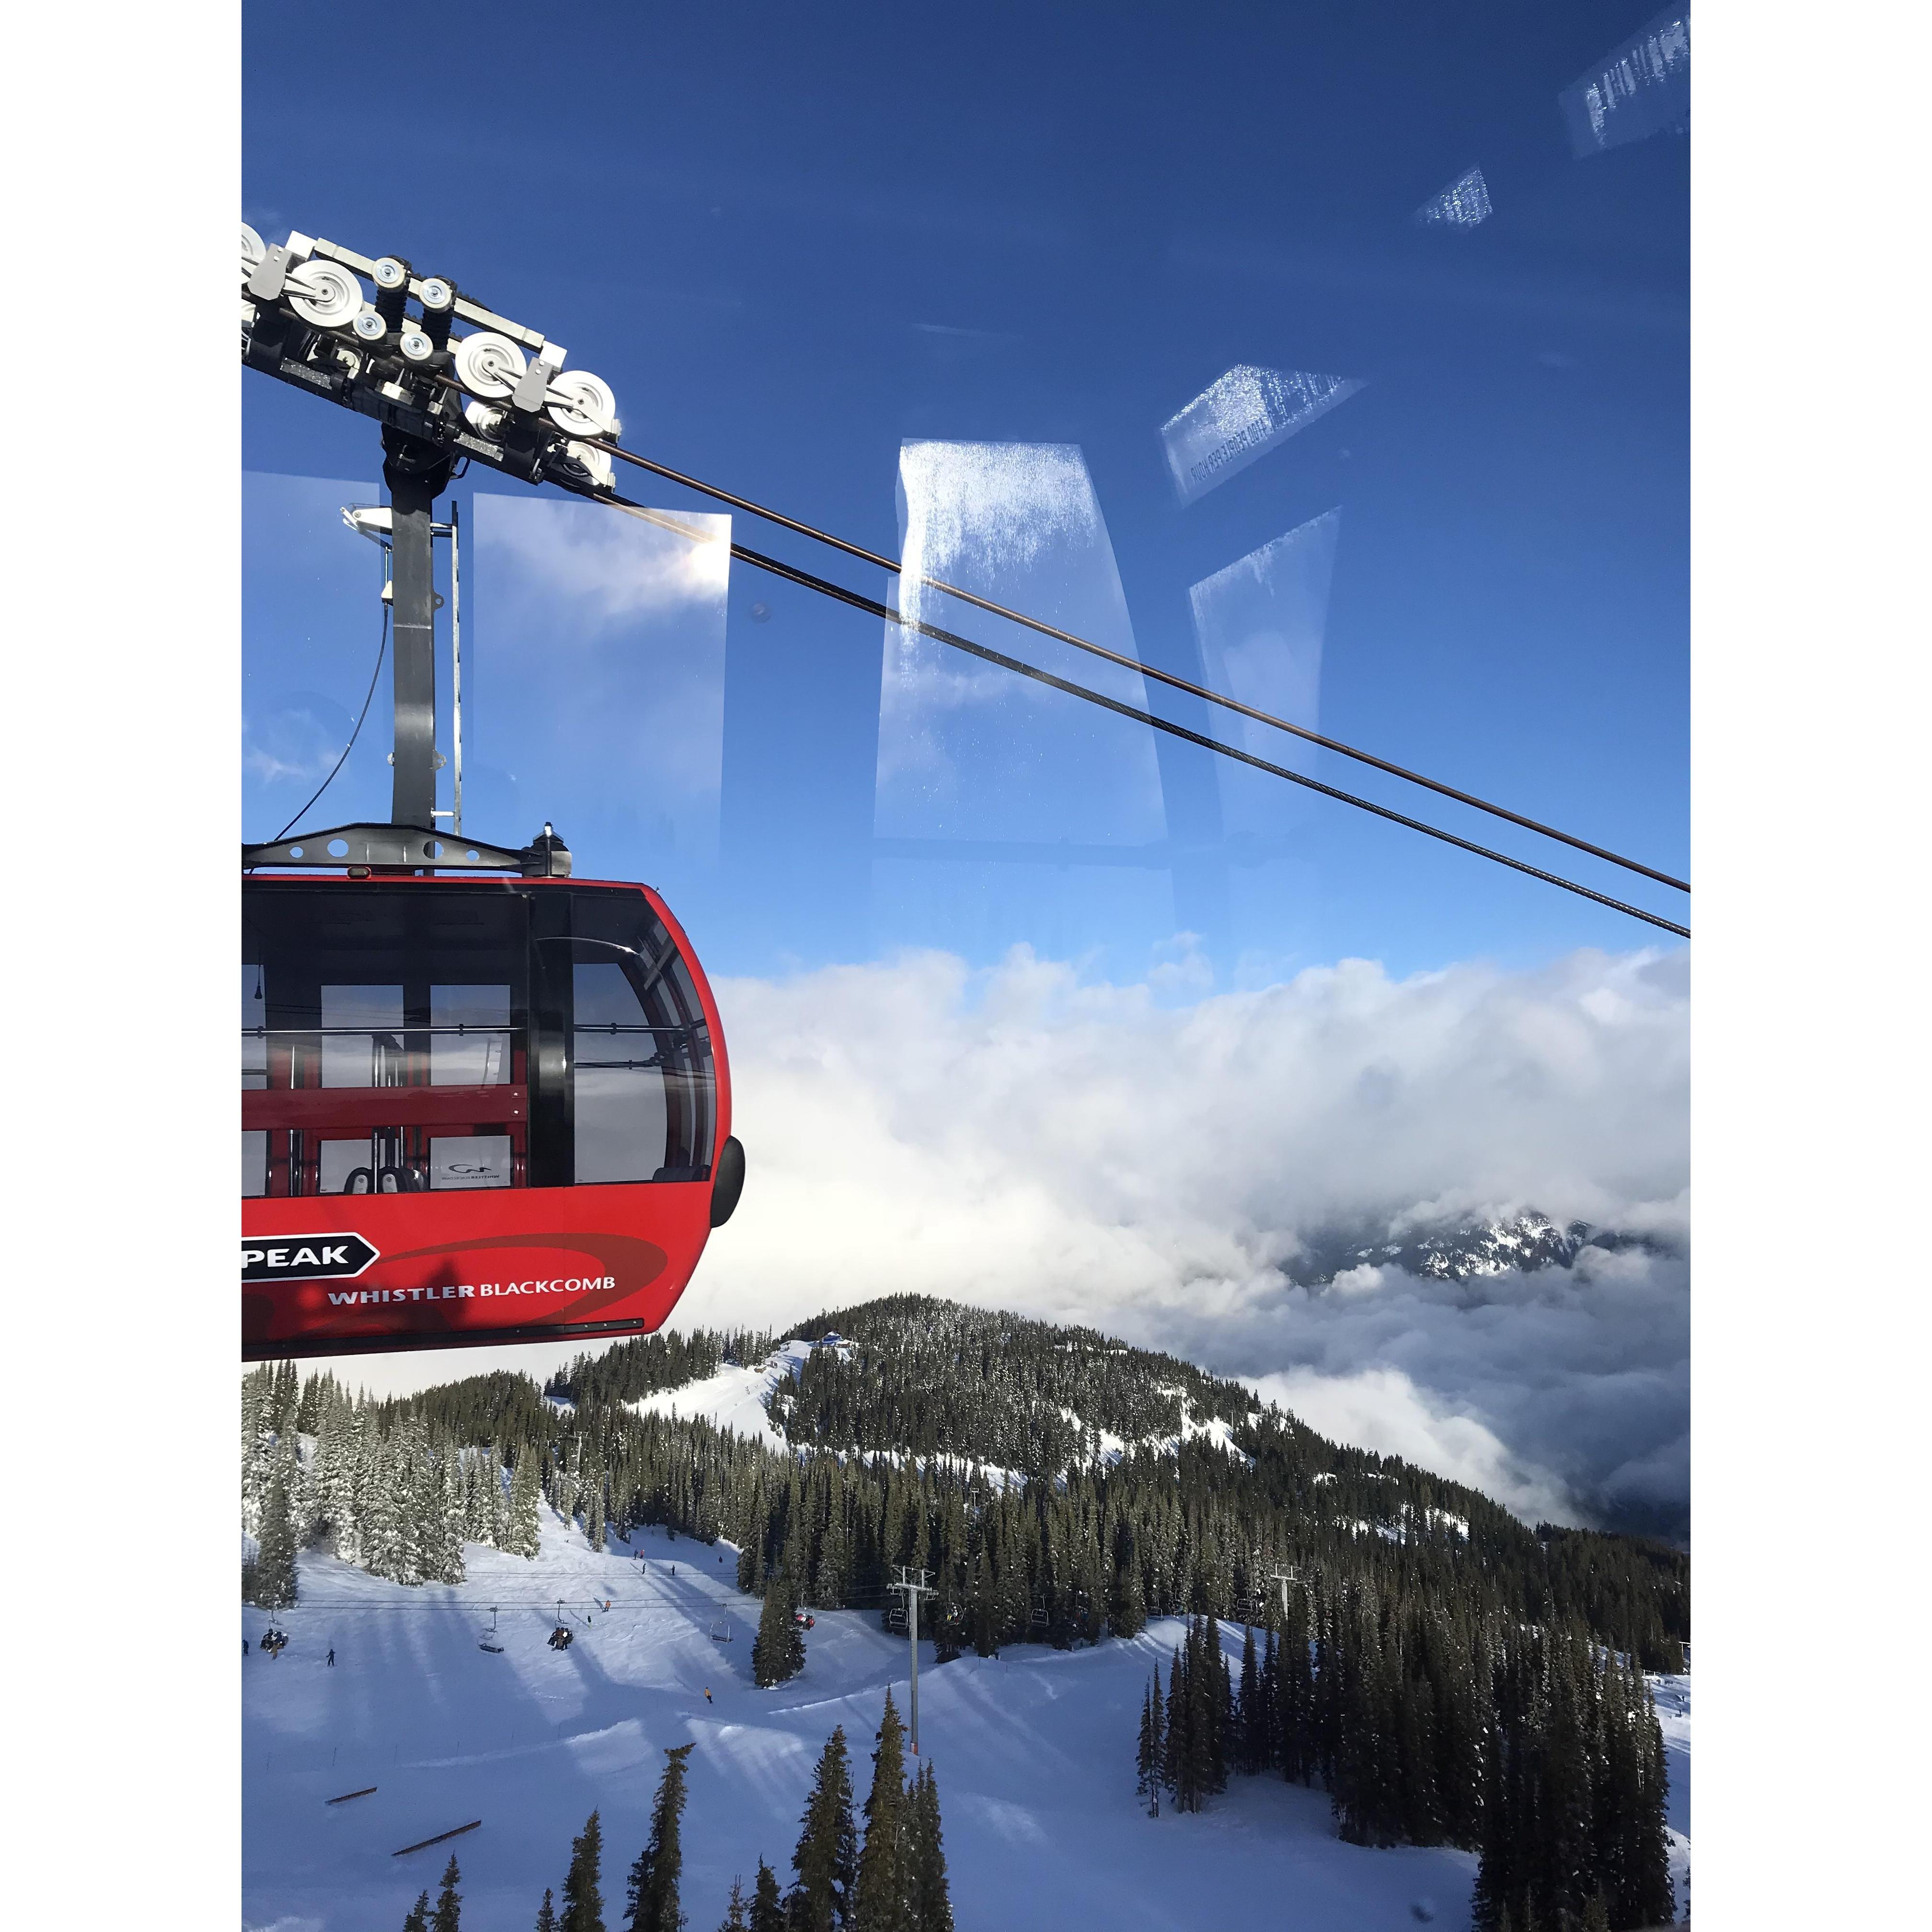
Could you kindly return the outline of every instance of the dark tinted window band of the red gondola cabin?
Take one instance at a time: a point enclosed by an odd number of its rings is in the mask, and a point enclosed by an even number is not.
[[[692,972],[641,893],[247,889],[243,1194],[705,1180]]]

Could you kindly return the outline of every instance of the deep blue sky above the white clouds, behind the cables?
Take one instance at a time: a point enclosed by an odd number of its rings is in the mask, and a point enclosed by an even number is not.
[[[1204,636],[1202,612],[1229,601],[1198,587],[1331,518],[1321,582],[1296,564],[1231,620],[1279,643],[1258,688],[1681,871],[1689,143],[1578,160],[1557,100],[1644,17],[993,6],[908,27],[887,8],[717,8],[549,33],[473,6],[452,33],[437,10],[253,6],[243,203],[272,238],[408,253],[566,342],[614,386],[632,446],[887,553],[902,520],[951,518],[970,587],[1184,674],[1242,643]],[[526,62],[554,71],[506,112]],[[431,71],[419,106],[394,81]],[[425,193],[394,191],[388,147]],[[1472,166],[1488,218],[1412,220]],[[1244,367],[1362,388],[1182,502],[1161,425]],[[377,495],[365,421],[257,377],[243,404],[251,471]],[[908,502],[902,450],[935,442],[1005,450],[927,464]],[[1001,516],[1032,516],[1024,489],[960,524],[960,477],[1032,473],[1041,448],[1072,477],[1055,500],[1080,498],[1059,553],[1001,545]],[[705,508],[645,477],[622,487]],[[243,811],[265,837],[361,701],[375,553],[328,527],[332,487],[249,491]],[[1225,987],[1350,954],[1532,966],[1660,937],[1341,806],[1231,800],[1208,753],[1057,715],[1070,701],[980,692],[949,711],[960,694],[941,690],[939,738],[912,742],[923,713],[891,676],[881,724],[875,622],[742,566],[699,572],[688,605],[636,585],[597,603],[545,576],[531,493],[473,471],[456,495],[469,831],[522,838],[553,817],[580,869],[674,889],[715,970],[916,943],[989,964],[1024,941],[1113,980],[1188,954],[1190,983]],[[732,533],[829,562],[746,518]],[[636,526],[574,541],[639,545],[638,582],[655,582]],[[883,591],[873,570],[829,574]],[[1009,641],[995,620],[941,620]],[[1092,661],[1076,674],[1105,682]],[[667,690],[682,696],[659,703]],[[381,813],[383,699],[319,823]],[[1192,701],[1159,707],[1202,723]],[[947,808],[925,794],[925,819],[900,796],[908,752],[952,784]],[[667,779],[667,757],[692,769]],[[1306,769],[1422,802],[1333,757]],[[1273,813],[1260,842],[1231,848],[1256,810]],[[713,813],[715,842],[678,831],[680,811]],[[1424,815],[1490,838],[1447,804]],[[1138,862],[1016,864],[1030,840]],[[1493,842],[1683,914],[1526,835]]]

